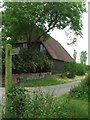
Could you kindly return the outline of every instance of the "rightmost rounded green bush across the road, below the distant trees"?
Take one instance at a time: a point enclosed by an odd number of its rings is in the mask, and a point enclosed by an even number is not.
[[[84,75],[86,72],[86,65],[84,64],[77,64],[76,65],[76,75]]]

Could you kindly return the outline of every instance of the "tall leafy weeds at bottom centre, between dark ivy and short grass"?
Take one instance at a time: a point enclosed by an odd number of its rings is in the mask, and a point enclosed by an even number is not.
[[[28,96],[25,118],[62,118],[63,103],[53,94],[42,91],[33,91]]]

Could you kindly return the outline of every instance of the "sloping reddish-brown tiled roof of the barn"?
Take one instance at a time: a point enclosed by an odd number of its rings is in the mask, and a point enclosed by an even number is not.
[[[66,62],[73,61],[70,54],[61,46],[61,44],[50,37],[47,41],[42,42],[53,59],[62,60]]]

